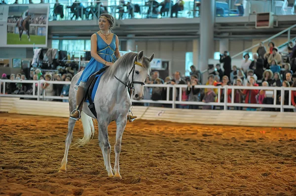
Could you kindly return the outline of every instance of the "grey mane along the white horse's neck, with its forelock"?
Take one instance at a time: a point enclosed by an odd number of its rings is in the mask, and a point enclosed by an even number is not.
[[[114,76],[114,74],[121,70],[120,72],[121,73],[124,73],[124,71],[126,70],[130,70],[132,68],[132,66],[134,65],[134,61],[135,61],[135,58],[137,58],[138,56],[138,53],[134,53],[134,52],[129,52],[129,53],[126,53],[125,55],[121,56],[118,60],[116,60],[113,65],[111,65],[106,73],[104,74],[105,75],[105,78],[111,78]],[[147,70],[150,69],[150,61],[148,60],[147,57],[143,57],[143,67]]]

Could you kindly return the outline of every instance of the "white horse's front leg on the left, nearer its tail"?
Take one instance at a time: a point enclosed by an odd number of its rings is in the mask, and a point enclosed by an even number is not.
[[[112,167],[110,163],[110,153],[111,153],[111,145],[108,139],[108,125],[105,121],[98,122],[99,126],[99,145],[102,150],[103,158],[104,158],[104,166],[108,172],[108,176],[112,177]]]

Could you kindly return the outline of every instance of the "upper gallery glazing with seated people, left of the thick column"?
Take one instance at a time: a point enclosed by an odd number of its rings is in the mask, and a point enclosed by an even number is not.
[[[113,4],[106,1],[80,1],[50,4],[49,20],[97,20],[102,13],[110,13],[116,20],[193,18],[198,17],[198,7],[194,5],[194,0],[184,0],[182,4],[170,1],[159,3],[155,0],[133,0],[132,3],[120,1],[116,4],[114,1]]]

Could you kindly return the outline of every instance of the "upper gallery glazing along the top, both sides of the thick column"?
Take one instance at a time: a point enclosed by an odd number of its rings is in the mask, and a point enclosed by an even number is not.
[[[182,0],[181,3],[180,0],[76,0],[50,3],[49,21],[97,20],[102,13],[111,13],[116,20],[196,18],[200,15],[203,1],[206,0]],[[275,15],[295,15],[295,6],[283,0],[216,0],[216,16],[239,17],[270,11]]]

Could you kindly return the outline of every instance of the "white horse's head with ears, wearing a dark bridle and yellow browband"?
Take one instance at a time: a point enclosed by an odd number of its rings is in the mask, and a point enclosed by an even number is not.
[[[133,85],[133,99],[135,100],[144,98],[144,85],[150,73],[150,62],[153,58],[154,53],[150,57],[146,57],[144,56],[144,51],[141,51],[135,58],[135,68],[131,70],[128,76],[129,81]]]

